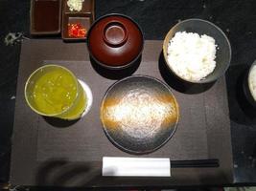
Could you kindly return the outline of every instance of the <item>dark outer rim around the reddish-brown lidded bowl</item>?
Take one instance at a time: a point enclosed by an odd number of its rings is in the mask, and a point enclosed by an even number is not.
[[[139,29],[139,32],[141,32],[141,35],[142,35],[142,49],[140,50],[140,53],[138,53],[130,62],[128,62],[128,64],[126,65],[121,65],[121,66],[109,66],[109,65],[105,65],[104,63],[100,62],[90,51],[90,48],[89,48],[89,41],[90,41],[90,33],[92,31],[92,29],[95,27],[95,25],[101,21],[102,19],[104,19],[105,17],[109,17],[109,16],[121,16],[121,17],[124,17],[124,18],[127,18],[128,20],[130,20],[132,23],[135,24],[135,26]],[[97,64],[99,64],[100,66],[104,67],[105,69],[109,69],[109,70],[122,70],[122,69],[126,69],[128,68],[130,65],[132,65],[142,54],[143,50],[144,50],[144,44],[145,44],[145,37],[144,37],[144,33],[141,29],[141,27],[139,26],[139,24],[134,20],[132,19],[131,17],[129,17],[128,15],[126,14],[121,14],[121,13],[108,13],[108,14],[105,14],[101,17],[99,17],[97,20],[95,20],[93,22],[93,24],[91,25],[88,33],[87,33],[87,50],[89,52],[89,55],[97,62]]]

